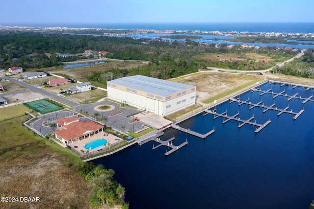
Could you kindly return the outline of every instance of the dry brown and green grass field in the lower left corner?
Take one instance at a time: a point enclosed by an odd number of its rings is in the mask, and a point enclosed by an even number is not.
[[[26,118],[0,122],[0,193],[39,197],[40,202],[0,202],[0,208],[90,208],[90,187],[77,171],[79,158],[23,127]]]

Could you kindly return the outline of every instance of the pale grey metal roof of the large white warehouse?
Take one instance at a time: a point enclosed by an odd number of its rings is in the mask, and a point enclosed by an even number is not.
[[[167,96],[184,89],[195,88],[195,86],[177,83],[173,81],[162,80],[158,78],[147,77],[143,75],[133,75],[129,77],[118,78],[108,83],[125,86],[130,89]]]

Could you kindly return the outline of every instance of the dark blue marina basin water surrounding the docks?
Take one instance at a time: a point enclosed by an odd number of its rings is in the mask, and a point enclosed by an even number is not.
[[[299,93],[309,97],[314,90],[279,84],[264,84],[262,90],[283,90],[288,95]],[[270,94],[247,92],[241,100],[276,104],[279,109],[289,105],[293,112],[303,108],[296,120],[293,115],[248,105],[226,102],[217,113],[227,110],[241,119],[255,116],[257,123],[269,118],[271,123],[256,134],[255,127],[237,128],[236,121],[222,123],[223,118],[198,115],[180,125],[199,133],[216,132],[200,139],[174,129],[163,139],[175,135],[173,144],[187,139],[188,144],[169,156],[166,147],[152,150],[153,144],[133,146],[113,156],[98,159],[106,168],[116,171],[115,179],[126,187],[130,209],[300,209],[308,208],[314,199],[314,102]],[[123,162],[123,163],[122,163]]]

